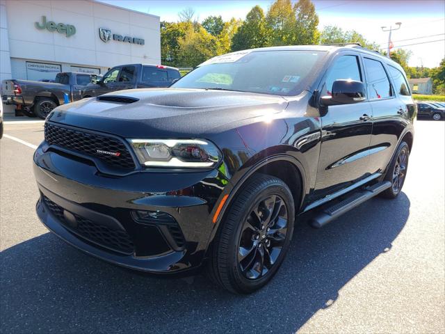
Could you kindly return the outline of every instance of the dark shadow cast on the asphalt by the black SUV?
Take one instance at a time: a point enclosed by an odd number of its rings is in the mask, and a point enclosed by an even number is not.
[[[391,243],[410,212],[405,193],[375,198],[321,230],[299,220],[268,286],[234,296],[198,276],[120,270],[43,234],[1,255],[1,332],[291,333]]]

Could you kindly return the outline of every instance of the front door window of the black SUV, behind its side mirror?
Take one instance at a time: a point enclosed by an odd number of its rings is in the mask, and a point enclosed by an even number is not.
[[[322,96],[332,95],[332,85],[335,80],[340,79],[362,81],[362,74],[360,74],[359,59],[357,56],[341,56],[334,61],[329,74],[327,74]]]

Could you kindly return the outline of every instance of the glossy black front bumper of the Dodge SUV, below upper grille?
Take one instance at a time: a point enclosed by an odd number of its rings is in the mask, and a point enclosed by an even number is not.
[[[232,189],[219,170],[111,177],[42,145],[34,162],[36,211],[51,232],[102,260],[151,273],[201,266],[216,203]],[[140,212],[163,213],[170,221],[139,219]]]

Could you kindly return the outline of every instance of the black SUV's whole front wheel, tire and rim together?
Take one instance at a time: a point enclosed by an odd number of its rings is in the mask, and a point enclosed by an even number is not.
[[[235,294],[266,285],[289,249],[294,219],[292,193],[282,180],[250,177],[227,208],[213,241],[207,268],[211,280]]]

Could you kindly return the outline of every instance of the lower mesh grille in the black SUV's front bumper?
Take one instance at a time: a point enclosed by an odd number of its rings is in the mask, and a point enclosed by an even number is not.
[[[63,214],[63,207],[60,207],[60,205],[57,205],[55,202],[51,201],[49,198],[47,198],[47,196],[43,196],[43,200],[49,211],[54,214],[60,223],[62,223],[68,230],[71,230],[75,234],[79,234],[80,237],[92,241],[95,244],[118,251],[119,253],[133,253],[133,242],[131,241],[127,232],[124,230],[114,230],[112,228],[108,228],[105,225],[101,225],[95,221],[90,221],[90,219],[83,218],[78,214],[73,214],[76,218],[76,225],[73,226],[72,223],[68,223],[66,221]]]

